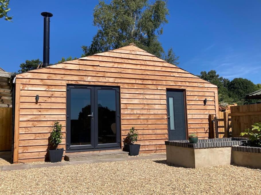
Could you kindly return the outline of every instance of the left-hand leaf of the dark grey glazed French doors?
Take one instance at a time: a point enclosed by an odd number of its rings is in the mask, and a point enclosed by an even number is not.
[[[66,150],[93,149],[94,87],[68,85],[66,99]]]

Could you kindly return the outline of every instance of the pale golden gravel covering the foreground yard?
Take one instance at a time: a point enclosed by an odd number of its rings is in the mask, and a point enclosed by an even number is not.
[[[261,194],[260,178],[260,169],[161,158],[0,171],[0,194]]]

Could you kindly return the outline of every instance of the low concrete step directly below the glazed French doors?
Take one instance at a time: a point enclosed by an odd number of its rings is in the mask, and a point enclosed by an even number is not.
[[[129,152],[124,151],[112,151],[112,152],[96,152],[89,154],[66,154],[64,160],[66,161],[81,161],[81,160],[97,160],[106,158],[124,158],[128,157]]]

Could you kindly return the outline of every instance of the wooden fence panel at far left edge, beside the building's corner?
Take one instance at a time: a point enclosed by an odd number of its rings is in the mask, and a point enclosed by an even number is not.
[[[12,149],[12,108],[0,107],[0,151]]]

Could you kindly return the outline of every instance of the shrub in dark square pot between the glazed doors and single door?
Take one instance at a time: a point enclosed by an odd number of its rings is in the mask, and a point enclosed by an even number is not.
[[[138,140],[138,132],[132,127],[126,138],[123,139],[124,150],[129,152],[129,156],[137,156],[140,151],[140,144],[134,144]]]

